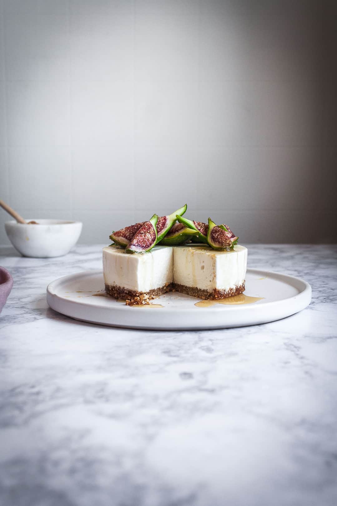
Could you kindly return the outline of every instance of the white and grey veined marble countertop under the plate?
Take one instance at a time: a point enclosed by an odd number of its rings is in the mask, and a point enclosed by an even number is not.
[[[72,320],[45,288],[101,267],[101,245],[0,249],[0,504],[337,504],[337,246],[250,245],[249,267],[306,279],[273,323],[141,331]]]

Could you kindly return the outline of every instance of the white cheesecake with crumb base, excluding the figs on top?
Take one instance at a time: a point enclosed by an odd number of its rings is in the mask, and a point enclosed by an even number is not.
[[[176,290],[200,299],[223,299],[245,290],[247,248],[214,250],[205,244],[155,246],[142,255],[119,246],[103,248],[107,293],[146,304]]]

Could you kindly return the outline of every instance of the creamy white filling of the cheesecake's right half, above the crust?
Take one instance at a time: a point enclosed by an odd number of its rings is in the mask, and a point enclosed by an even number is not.
[[[230,251],[218,251],[205,245],[176,246],[173,249],[175,283],[211,292],[235,288],[245,280],[245,246],[236,245]]]

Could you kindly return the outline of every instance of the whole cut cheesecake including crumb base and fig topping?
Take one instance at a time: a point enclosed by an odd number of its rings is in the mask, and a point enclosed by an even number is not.
[[[127,305],[148,304],[175,290],[199,299],[223,299],[245,290],[247,248],[227,225],[154,215],[113,232],[103,248],[106,292]]]

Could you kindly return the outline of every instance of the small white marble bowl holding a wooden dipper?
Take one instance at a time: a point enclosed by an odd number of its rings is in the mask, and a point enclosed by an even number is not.
[[[5,223],[7,236],[24,257],[61,257],[76,244],[82,231],[81,222],[66,220],[34,220],[39,225],[9,221]]]

